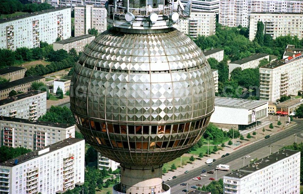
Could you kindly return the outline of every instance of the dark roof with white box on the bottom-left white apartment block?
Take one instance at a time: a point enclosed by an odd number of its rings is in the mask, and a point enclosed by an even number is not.
[[[24,154],[24,155],[21,155],[19,157],[12,158],[8,161],[2,162],[0,165],[1,166],[7,166],[7,167],[14,167],[15,166],[15,161],[17,162],[17,164],[20,164],[22,162],[26,162],[28,160],[31,160],[31,159],[36,158],[38,156],[41,156],[45,153],[49,153],[49,152],[52,152],[52,151],[57,151],[59,148],[63,148],[65,146],[78,143],[79,141],[84,141],[84,139],[67,138],[65,140],[58,141],[58,142],[56,142],[52,145],[45,146],[42,149],[38,149],[38,150],[35,150],[35,151],[32,151],[32,152],[28,152],[27,154]]]

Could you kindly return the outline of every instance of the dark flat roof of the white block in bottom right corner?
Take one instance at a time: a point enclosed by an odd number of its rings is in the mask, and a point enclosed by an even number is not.
[[[294,150],[280,150],[276,153],[273,153],[271,155],[269,155],[268,157],[265,158],[261,158],[260,160],[255,161],[254,163],[244,166],[240,169],[238,169],[237,171],[234,171],[232,174],[229,173],[225,176],[228,177],[234,177],[234,178],[241,178],[241,177],[245,177],[251,173],[254,173],[262,168],[266,168],[269,165],[272,165],[276,162],[278,162],[279,160],[282,160],[284,158],[287,158],[291,155],[294,155],[296,153],[298,153],[300,151],[294,151]],[[298,160],[300,161],[300,158],[298,158]]]

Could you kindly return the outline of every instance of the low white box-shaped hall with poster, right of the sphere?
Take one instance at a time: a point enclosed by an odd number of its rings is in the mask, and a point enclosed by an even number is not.
[[[268,116],[268,102],[241,98],[215,97],[210,122],[220,128],[245,129]]]

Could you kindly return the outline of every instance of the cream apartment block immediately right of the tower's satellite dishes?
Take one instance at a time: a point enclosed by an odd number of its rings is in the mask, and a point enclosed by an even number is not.
[[[211,36],[216,32],[215,12],[192,11],[190,17],[180,19],[177,29],[193,38]]]

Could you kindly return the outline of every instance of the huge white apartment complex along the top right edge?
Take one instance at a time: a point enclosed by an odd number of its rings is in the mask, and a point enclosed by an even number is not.
[[[251,12],[303,12],[301,0],[220,0],[219,23],[247,27]]]

